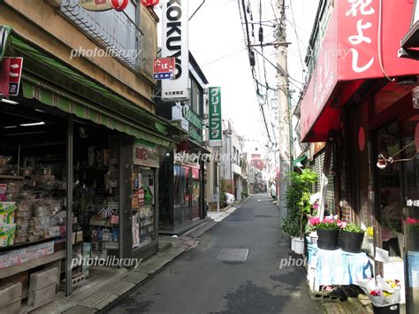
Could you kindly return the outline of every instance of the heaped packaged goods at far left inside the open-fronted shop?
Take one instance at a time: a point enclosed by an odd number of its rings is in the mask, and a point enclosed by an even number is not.
[[[21,176],[13,175],[19,165],[11,164],[12,157],[0,159],[8,169],[0,175],[0,247],[64,235],[65,228],[60,228],[65,226],[62,182],[35,159],[31,158],[31,172],[26,167]]]

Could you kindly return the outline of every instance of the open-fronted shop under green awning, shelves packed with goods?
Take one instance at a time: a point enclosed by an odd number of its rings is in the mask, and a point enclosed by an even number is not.
[[[15,103],[1,103],[0,286],[21,282],[23,300],[52,267],[51,289],[70,295],[98,269],[74,260],[155,254],[158,167],[179,128],[17,34],[5,56],[24,64]]]

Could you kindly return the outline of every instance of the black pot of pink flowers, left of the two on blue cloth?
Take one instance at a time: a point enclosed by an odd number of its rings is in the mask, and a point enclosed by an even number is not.
[[[338,249],[339,229],[345,227],[345,222],[337,216],[328,216],[316,224],[318,249]]]

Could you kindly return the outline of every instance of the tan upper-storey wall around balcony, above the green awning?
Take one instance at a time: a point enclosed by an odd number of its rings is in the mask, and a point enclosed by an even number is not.
[[[141,7],[141,30],[143,31],[144,57],[156,57],[156,14]],[[155,111],[151,102],[154,81],[150,76],[149,64],[144,64],[143,73],[134,73],[114,57],[73,57],[71,50],[102,49],[78,27],[65,19],[50,4],[42,0],[5,0],[0,2],[0,24],[8,25],[30,42],[47,50],[67,65],[78,69],[126,97],[147,111]]]

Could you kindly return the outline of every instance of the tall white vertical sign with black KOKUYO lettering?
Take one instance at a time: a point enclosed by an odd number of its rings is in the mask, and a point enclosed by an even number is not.
[[[162,57],[175,57],[172,80],[162,80],[162,101],[186,101],[189,82],[189,48],[187,43],[187,1],[164,0]]]

